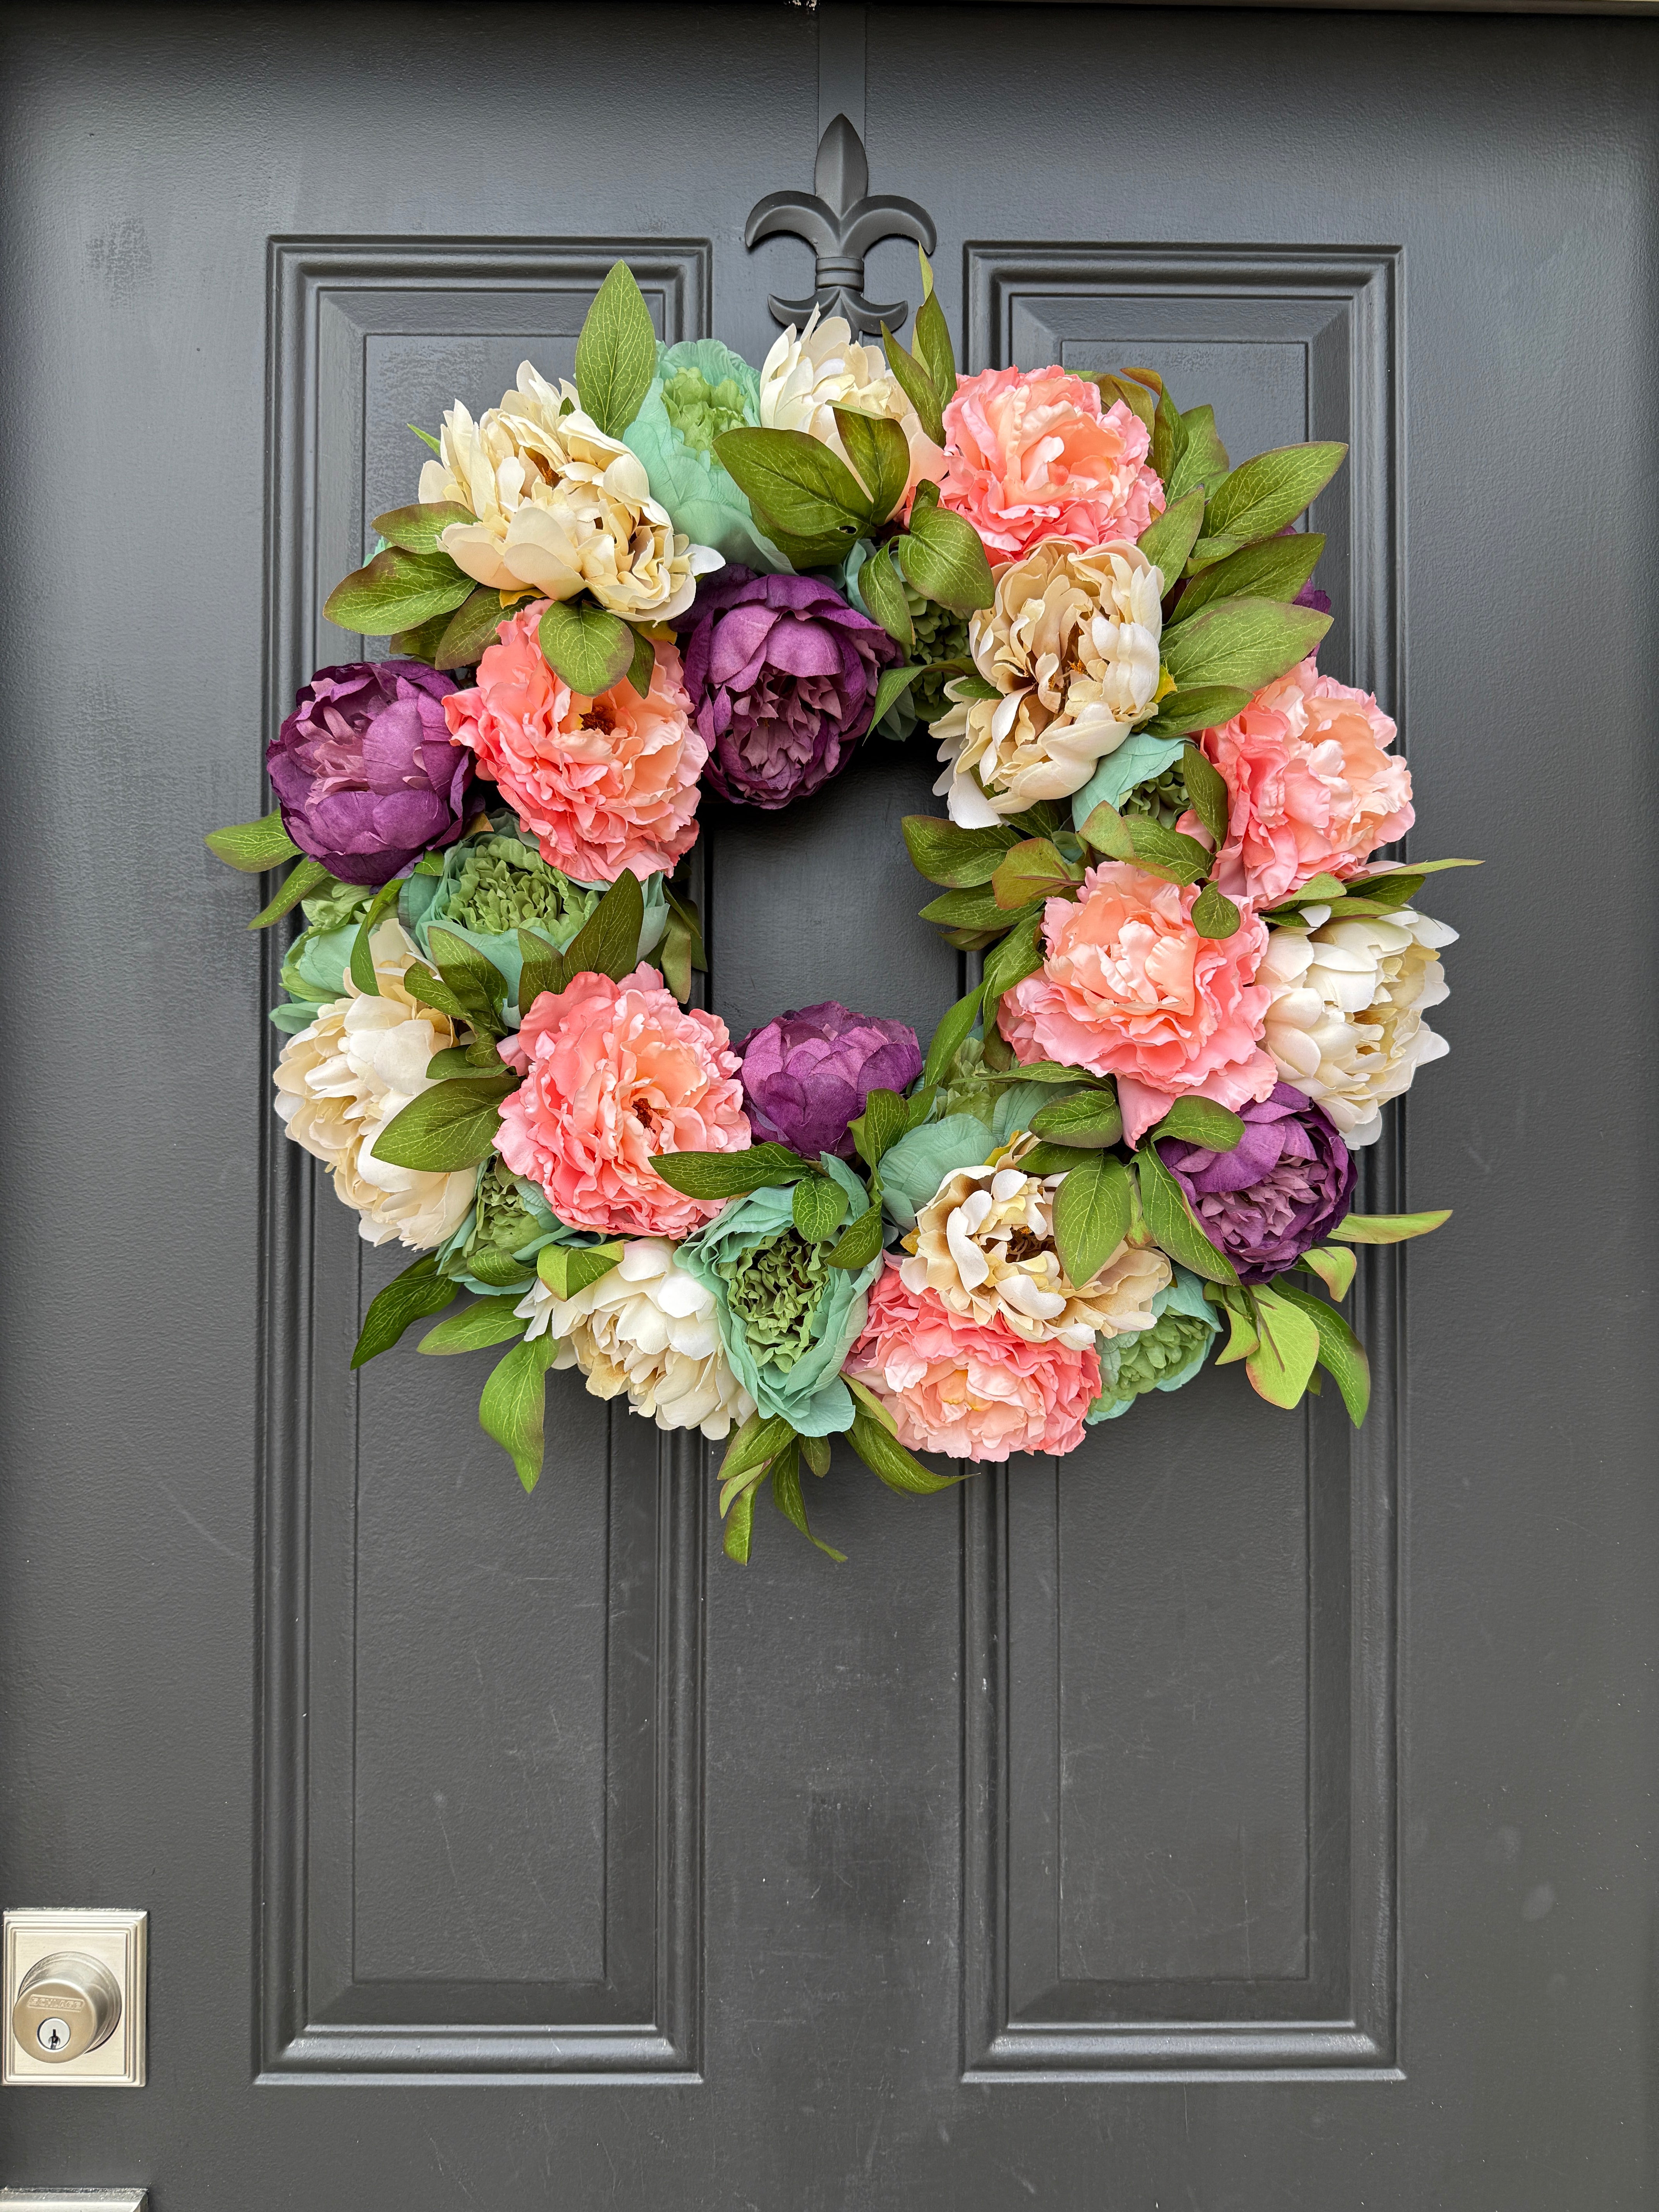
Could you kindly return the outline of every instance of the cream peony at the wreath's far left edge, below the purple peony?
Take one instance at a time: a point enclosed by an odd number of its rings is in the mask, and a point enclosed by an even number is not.
[[[449,1237],[473,1203],[478,1170],[460,1175],[394,1168],[374,1159],[374,1139],[409,1099],[429,1091],[427,1062],[456,1042],[449,1015],[420,1006],[403,989],[414,945],[396,922],[374,931],[380,998],[363,998],[345,978],[345,998],[319,1009],[276,1062],[276,1113],[294,1144],[325,1164],[334,1192],[363,1217],[367,1243],[394,1237],[427,1252]]]

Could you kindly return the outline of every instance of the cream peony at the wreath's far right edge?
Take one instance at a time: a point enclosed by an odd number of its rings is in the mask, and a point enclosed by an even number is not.
[[[1447,998],[1440,947],[1455,942],[1455,929],[1409,907],[1378,920],[1270,931],[1256,971],[1272,989],[1261,1042],[1352,1150],[1376,1144],[1383,1106],[1451,1051],[1422,1015]]]

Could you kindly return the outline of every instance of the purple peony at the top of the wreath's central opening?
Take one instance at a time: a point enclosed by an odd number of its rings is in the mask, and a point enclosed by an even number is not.
[[[787,807],[838,774],[898,659],[887,630],[814,575],[721,568],[699,586],[686,628],[703,781],[745,807]]]

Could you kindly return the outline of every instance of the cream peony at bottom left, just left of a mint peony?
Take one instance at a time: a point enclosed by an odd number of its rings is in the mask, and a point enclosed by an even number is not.
[[[659,1429],[728,1436],[754,1400],[726,1365],[714,1294],[675,1261],[666,1237],[630,1239],[617,1265],[575,1298],[555,1298],[540,1279],[513,1310],[526,1336],[564,1338],[555,1367],[580,1367],[595,1398],[624,1391]]]

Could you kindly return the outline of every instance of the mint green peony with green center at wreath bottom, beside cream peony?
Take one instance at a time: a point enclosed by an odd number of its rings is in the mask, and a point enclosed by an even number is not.
[[[823,1170],[847,1192],[845,1228],[869,1197],[832,1152],[823,1155]],[[854,1416],[841,1363],[865,1325],[867,1292],[883,1261],[878,1252],[856,1272],[830,1267],[836,1239],[810,1245],[792,1208],[792,1190],[752,1190],[675,1256],[714,1294],[726,1358],[761,1413],[781,1413],[799,1436],[836,1436]]]

